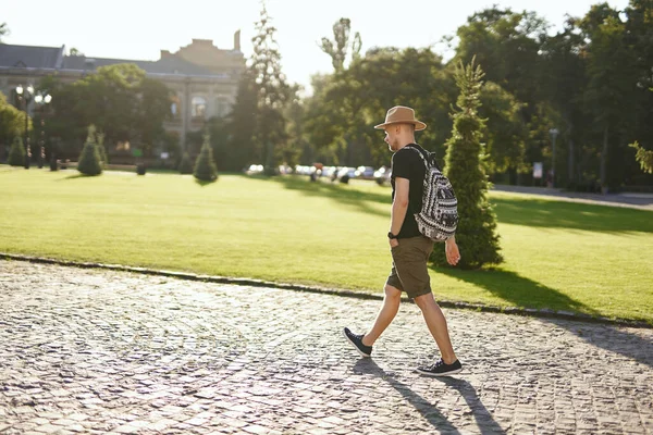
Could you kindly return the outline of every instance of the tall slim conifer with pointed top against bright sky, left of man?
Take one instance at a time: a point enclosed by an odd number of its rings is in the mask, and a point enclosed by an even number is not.
[[[249,71],[257,92],[256,122],[252,141],[262,151],[266,173],[274,174],[279,163],[276,150],[286,140],[286,120],[283,110],[296,88],[289,86],[281,71],[281,53],[274,38],[276,28],[272,26],[268,10],[263,4],[260,18],[256,23],[254,53]]]

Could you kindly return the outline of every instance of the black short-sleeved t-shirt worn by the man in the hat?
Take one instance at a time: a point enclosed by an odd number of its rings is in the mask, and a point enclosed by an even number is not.
[[[410,147],[426,153],[424,149],[417,144],[410,144]],[[424,162],[408,146],[392,156],[392,175],[390,182],[392,184],[393,201],[395,196],[395,178],[406,178],[410,182],[410,187],[408,188],[408,210],[406,210],[406,217],[397,238],[416,237],[421,234],[417,228],[414,213],[419,213],[421,210],[424,172]]]

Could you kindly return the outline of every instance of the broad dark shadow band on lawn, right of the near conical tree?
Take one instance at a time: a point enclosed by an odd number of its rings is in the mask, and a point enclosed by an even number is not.
[[[653,212],[538,198],[492,198],[500,223],[591,232],[653,233]]]

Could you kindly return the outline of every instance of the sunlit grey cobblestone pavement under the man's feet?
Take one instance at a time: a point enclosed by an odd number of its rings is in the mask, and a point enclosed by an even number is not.
[[[446,310],[465,371],[403,304],[0,261],[0,433],[651,434],[653,330]]]

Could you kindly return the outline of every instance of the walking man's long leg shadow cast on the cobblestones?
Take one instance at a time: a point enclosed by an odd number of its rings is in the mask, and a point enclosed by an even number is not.
[[[410,387],[399,381],[397,381],[392,374],[386,373],[381,369],[372,359],[361,358],[356,362],[353,370],[355,372],[371,374],[381,377],[387,382],[394,389],[397,390],[407,401],[410,403],[434,428],[447,434],[459,434],[460,432],[444,417],[438,408],[429,400],[424,399],[417,393],[412,391]],[[454,389],[456,389],[460,396],[467,402],[467,406],[471,410],[473,418],[477,421],[478,427],[481,434],[505,434],[498,423],[494,421],[492,414],[481,402],[476,389],[467,381],[453,377],[438,377],[434,382],[442,382]]]

